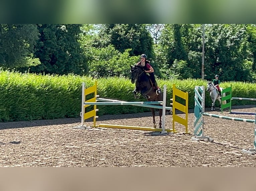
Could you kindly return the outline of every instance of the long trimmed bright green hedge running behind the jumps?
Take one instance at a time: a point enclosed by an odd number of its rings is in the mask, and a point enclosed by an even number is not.
[[[76,75],[50,76],[33,75],[12,72],[0,72],[0,122],[22,121],[36,119],[54,119],[65,117],[78,117],[81,112],[82,82],[86,87],[91,87],[95,79]],[[207,86],[207,81],[202,80],[158,80],[162,88],[167,86],[167,104],[170,106],[172,98],[172,85],[188,92],[189,108],[194,108],[195,86]],[[221,87],[232,85],[233,97],[256,97],[256,85],[242,82],[226,82]],[[132,91],[135,85],[129,79],[108,78],[98,79],[98,95],[102,98],[111,98],[124,101],[145,101],[140,96],[134,99]],[[89,95],[87,98],[90,98]],[[179,102],[184,103],[179,99]],[[253,101],[233,100],[233,104],[255,104]],[[206,92],[206,107],[211,106],[209,93]],[[216,103],[216,106],[218,102]],[[104,106],[98,105],[97,115],[125,114],[149,111],[147,107],[139,106]]]

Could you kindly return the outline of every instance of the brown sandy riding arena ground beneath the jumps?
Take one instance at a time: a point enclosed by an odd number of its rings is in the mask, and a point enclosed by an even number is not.
[[[255,105],[233,106],[232,111],[256,112]],[[205,112],[208,112],[206,109]],[[188,128],[175,124],[179,133],[155,136],[150,131],[94,128],[74,129],[80,118],[0,123],[0,166],[33,167],[214,167],[256,166],[256,155],[241,149],[253,148],[253,123],[205,116],[205,135],[214,139],[193,141],[194,113]],[[219,111],[210,113],[220,114]],[[158,114],[158,113],[157,113]],[[254,119],[254,115],[223,115]],[[183,114],[180,114],[184,117]],[[158,123],[158,116],[156,121]],[[150,112],[104,115],[97,124],[152,126]],[[172,116],[166,115],[166,128]],[[88,121],[88,125],[92,122]]]

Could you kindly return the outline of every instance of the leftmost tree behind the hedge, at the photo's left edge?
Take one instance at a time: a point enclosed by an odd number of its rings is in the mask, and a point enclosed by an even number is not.
[[[33,56],[38,36],[35,24],[0,24],[0,66],[14,69],[40,64]]]

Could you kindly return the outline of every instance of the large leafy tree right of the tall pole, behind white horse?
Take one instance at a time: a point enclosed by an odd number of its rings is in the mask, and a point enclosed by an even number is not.
[[[248,59],[247,34],[244,25],[208,25],[206,28],[205,73],[223,81],[252,81]]]

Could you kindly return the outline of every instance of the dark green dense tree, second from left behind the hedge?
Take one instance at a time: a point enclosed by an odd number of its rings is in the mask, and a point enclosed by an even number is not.
[[[60,75],[87,74],[87,59],[78,42],[81,26],[78,24],[37,25],[40,38],[35,47],[35,56],[40,59],[41,64],[30,67],[30,72]]]

